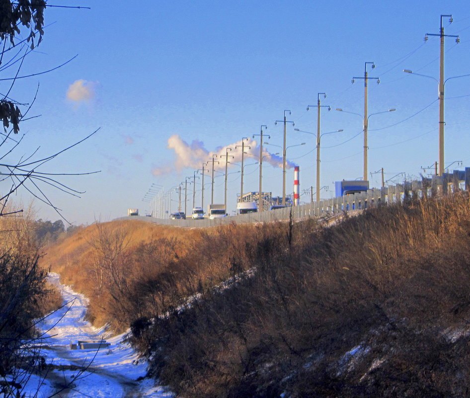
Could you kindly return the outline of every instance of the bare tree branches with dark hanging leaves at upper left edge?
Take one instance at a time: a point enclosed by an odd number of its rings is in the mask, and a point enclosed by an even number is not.
[[[40,171],[43,166],[63,154],[72,147],[77,146],[91,137],[98,130],[92,132],[82,140],[73,143],[62,151],[53,153],[46,157],[38,157],[38,148],[32,153],[18,157],[14,162],[5,161],[18,150],[25,135],[19,136],[20,124],[37,116],[29,116],[31,108],[36,100],[36,93],[32,95],[29,102],[15,98],[15,84],[22,79],[32,78],[37,75],[50,73],[71,62],[75,57],[61,65],[46,71],[38,71],[33,74],[22,75],[22,66],[29,54],[40,45],[44,35],[44,11],[46,7],[44,0],[0,0],[0,120],[3,131],[0,130],[0,182],[4,187],[0,190],[0,217],[13,216],[22,213],[22,209],[8,211],[6,203],[10,196],[19,188],[28,191],[39,201],[51,206],[61,214],[51,198],[45,192],[45,187],[52,186],[57,190],[66,192],[73,196],[79,196],[79,192],[63,184],[61,176],[83,175],[90,173],[66,173],[66,172],[44,172]],[[85,8],[85,7],[75,7]],[[38,85],[39,89],[39,85]]]

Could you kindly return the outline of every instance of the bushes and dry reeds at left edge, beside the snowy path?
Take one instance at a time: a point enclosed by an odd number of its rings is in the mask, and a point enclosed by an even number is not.
[[[12,205],[5,213],[18,214]],[[28,374],[44,361],[37,346],[38,318],[62,305],[60,293],[38,265],[39,246],[30,213],[0,217],[0,395],[19,397]]]

